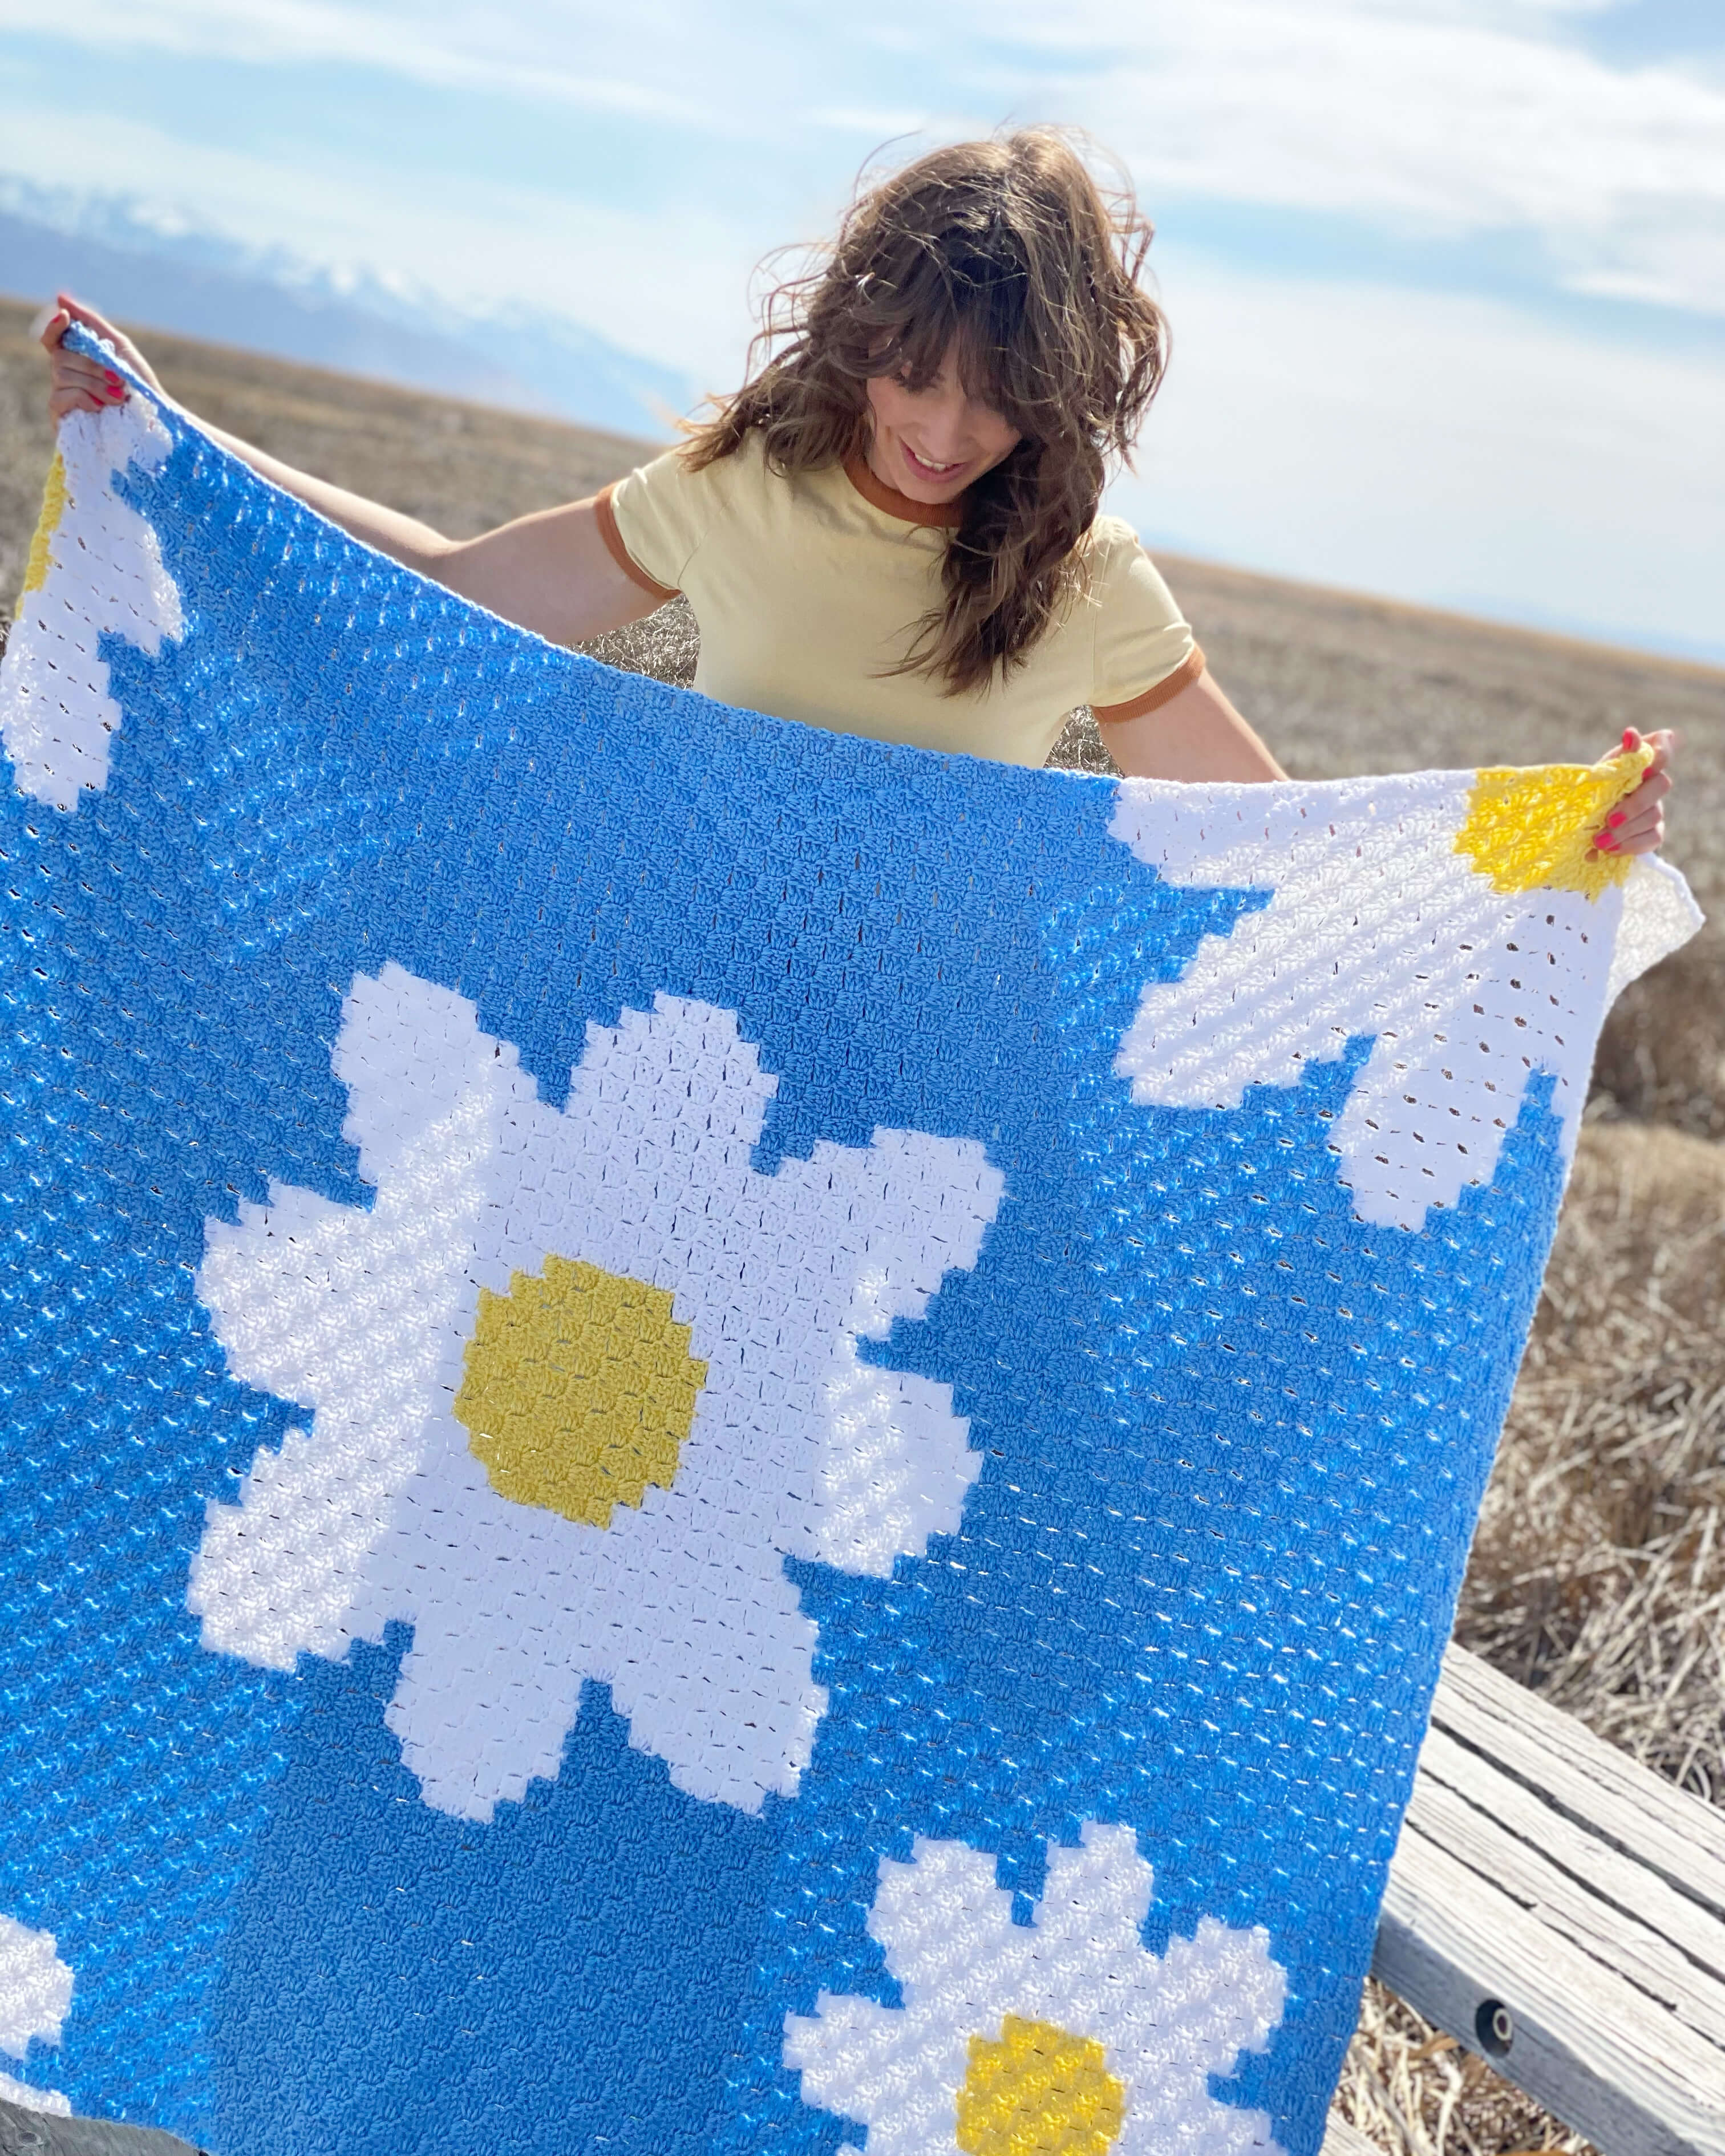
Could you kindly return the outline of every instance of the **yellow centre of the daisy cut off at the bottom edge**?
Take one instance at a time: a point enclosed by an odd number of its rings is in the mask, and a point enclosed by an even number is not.
[[[964,2156],[1108,2156],[1126,2124],[1126,2083],[1095,2037],[1007,2014],[1000,2040],[970,2037],[957,2091]]]

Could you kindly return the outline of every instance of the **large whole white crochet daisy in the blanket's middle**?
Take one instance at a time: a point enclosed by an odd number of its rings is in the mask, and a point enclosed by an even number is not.
[[[390,964],[334,1072],[371,1210],[272,1186],[207,1225],[229,1369],[315,1414],[209,1507],[205,1645],[291,1669],[412,1619],[388,1720],[440,1811],[556,1777],[584,1677],[690,1794],[794,1792],[826,1695],[785,1557],[884,1578],[957,1531],[951,1388],[858,1345],[975,1266],[998,1171],[878,1130],[757,1173],[778,1080],[675,996],[589,1026],[558,1112]]]

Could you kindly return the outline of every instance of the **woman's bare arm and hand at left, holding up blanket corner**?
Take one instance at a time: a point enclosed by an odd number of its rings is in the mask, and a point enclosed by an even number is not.
[[[106,336],[142,382],[162,388],[144,356],[121,330],[63,295],[41,334],[52,369],[47,410],[56,423],[67,412],[99,412],[127,395],[123,379],[101,360],[63,345],[73,321]],[[541,509],[479,539],[446,539],[399,509],[349,494],[347,487],[315,479],[310,472],[295,472],[291,464],[222,433],[220,427],[205,431],[263,479],[367,545],[375,545],[380,554],[418,569],[464,599],[474,599],[552,642],[586,642],[589,636],[621,630],[625,621],[640,621],[660,604],[612,558],[591,500]]]

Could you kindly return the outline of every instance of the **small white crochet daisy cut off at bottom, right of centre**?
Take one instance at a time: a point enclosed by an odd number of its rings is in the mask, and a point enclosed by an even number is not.
[[[1261,2111],[1210,2093],[1281,2020],[1270,1936],[1203,1917],[1149,1953],[1149,1893],[1130,1826],[1087,1822],[1082,1848],[1050,1848],[1029,1925],[962,1841],[882,1858],[869,1934],[903,2005],[822,1992],[813,2016],[787,2014],[804,2104],[865,2124],[869,2156],[1274,2150]]]

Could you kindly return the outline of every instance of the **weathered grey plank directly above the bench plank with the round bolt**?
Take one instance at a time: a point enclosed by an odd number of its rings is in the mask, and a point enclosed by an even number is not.
[[[1490,1761],[1432,1729],[1408,1815],[1419,1833],[1615,1968],[1721,2050],[1725,1925]]]

